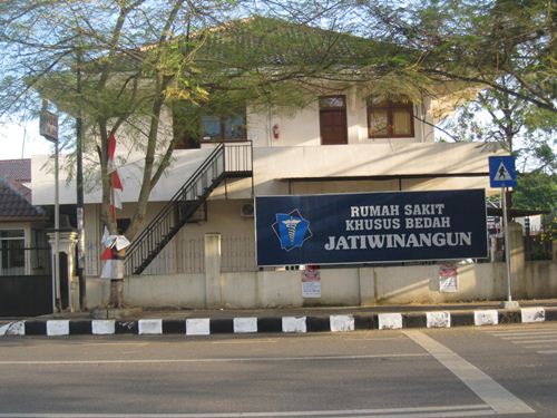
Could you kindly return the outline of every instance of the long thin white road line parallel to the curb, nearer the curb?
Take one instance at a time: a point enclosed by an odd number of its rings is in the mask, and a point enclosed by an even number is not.
[[[218,362],[256,362],[256,361],[322,361],[322,360],[367,360],[381,358],[428,357],[427,353],[409,354],[367,354],[367,356],[314,356],[314,357],[240,357],[215,359],[137,359],[137,360],[2,360],[0,366],[62,366],[62,364],[159,364],[159,363],[218,363]]]

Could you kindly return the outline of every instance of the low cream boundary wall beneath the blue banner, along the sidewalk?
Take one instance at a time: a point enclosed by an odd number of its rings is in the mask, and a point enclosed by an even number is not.
[[[301,271],[221,273],[207,289],[204,274],[139,275],[125,280],[126,303],[140,307],[273,308],[372,305],[506,300],[504,263],[459,264],[458,291],[439,289],[439,264],[321,270],[321,298],[302,297]],[[215,289],[216,288],[216,289]],[[109,281],[88,278],[89,308],[104,304]],[[527,262],[514,280],[514,299],[557,298],[557,262]]]

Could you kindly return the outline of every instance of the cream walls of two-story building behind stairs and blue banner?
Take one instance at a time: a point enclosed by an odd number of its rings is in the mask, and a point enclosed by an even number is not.
[[[414,103],[401,99],[400,93],[393,99],[379,99],[368,91],[369,84],[353,82],[325,95],[307,95],[306,104],[295,110],[247,104],[227,115],[202,114],[196,147],[190,148],[192,140],[180,143],[150,194],[145,226],[157,232],[136,236],[137,243],[146,244],[128,252],[127,272],[141,275],[129,279],[136,284],[128,284],[127,298],[147,305],[303,303],[297,284],[292,291],[285,290],[292,283],[284,282],[281,290],[258,276],[276,272],[257,272],[255,265],[254,196],[489,188],[488,156],[498,153],[495,148],[480,143],[436,142],[433,126],[452,106],[455,91],[449,85],[438,86],[437,95]],[[176,115],[166,111],[162,138],[173,135],[175,123]],[[129,138],[125,134],[117,140],[117,155],[126,158],[118,167],[124,184],[124,210],[118,211],[118,221],[125,227],[138,198],[143,163],[126,145]],[[45,171],[47,158],[32,158],[35,205],[53,204],[53,176]],[[106,285],[95,279],[101,265],[101,191],[95,181],[95,164],[86,163],[86,274],[91,292],[96,292],[89,297],[95,304],[107,297]],[[60,204],[75,204],[76,183],[68,182],[63,172],[59,187]],[[147,226],[153,220],[158,224]],[[227,284],[221,281],[216,293],[206,274],[208,233],[221,236],[219,278],[238,274]],[[353,274],[348,270],[341,275]],[[138,290],[140,278],[157,284]],[[153,285],[158,290],[153,291]],[[266,290],[254,290],[265,285]],[[99,286],[105,290],[94,291]],[[241,295],[244,290],[252,297]],[[285,297],[291,293],[292,298]],[[332,291],[335,297],[323,303],[360,303],[365,298],[361,291],[356,293]]]

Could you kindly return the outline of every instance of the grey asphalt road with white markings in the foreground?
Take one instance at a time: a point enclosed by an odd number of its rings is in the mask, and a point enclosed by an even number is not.
[[[557,416],[557,324],[0,339],[0,418]]]

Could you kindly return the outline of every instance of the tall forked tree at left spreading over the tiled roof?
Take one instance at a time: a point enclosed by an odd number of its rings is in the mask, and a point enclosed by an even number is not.
[[[340,89],[352,80],[354,61],[394,84],[390,67],[400,66],[383,62],[392,49],[316,28],[336,28],[334,2],[294,3],[270,1],[263,8],[280,9],[289,23],[245,19],[253,3],[242,0],[6,0],[0,3],[0,116],[38,109],[40,98],[81,116],[85,153],[100,172],[101,221],[113,234],[110,134],[134,138],[143,172],[125,231],[133,240],[180,137],[163,132],[167,110],[185,105],[195,117],[202,106],[303,105],[305,90]],[[188,127],[192,120],[183,124]],[[114,288],[111,303],[123,303]]]

